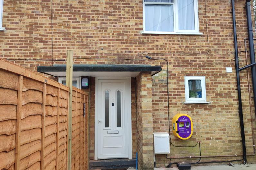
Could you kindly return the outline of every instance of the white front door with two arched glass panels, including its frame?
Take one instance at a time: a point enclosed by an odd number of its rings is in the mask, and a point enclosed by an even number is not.
[[[97,158],[131,157],[131,131],[128,127],[131,123],[130,78],[98,78],[96,81]]]

